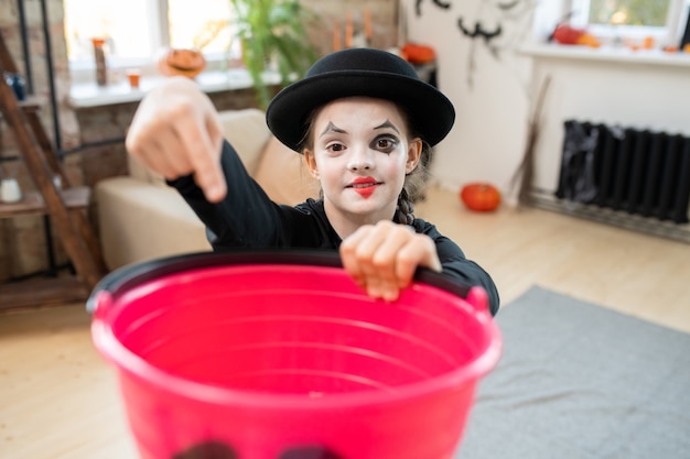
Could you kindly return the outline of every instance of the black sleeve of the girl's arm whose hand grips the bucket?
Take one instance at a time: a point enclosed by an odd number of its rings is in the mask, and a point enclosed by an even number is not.
[[[423,232],[435,242],[442,273],[463,285],[478,285],[483,287],[488,295],[489,310],[492,315],[496,315],[500,299],[492,276],[474,261],[467,260],[462,249],[455,242],[442,236],[433,225],[417,219],[414,226],[418,232]]]

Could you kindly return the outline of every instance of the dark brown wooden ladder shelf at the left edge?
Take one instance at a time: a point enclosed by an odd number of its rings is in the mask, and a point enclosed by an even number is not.
[[[39,118],[35,100],[18,101],[4,75],[18,69],[0,34],[0,111],[12,130],[37,193],[15,204],[0,203],[0,218],[48,215],[76,276],[0,285],[0,309],[86,299],[106,272],[98,240],[85,216],[88,187],[73,187]],[[50,237],[50,234],[47,236]]]

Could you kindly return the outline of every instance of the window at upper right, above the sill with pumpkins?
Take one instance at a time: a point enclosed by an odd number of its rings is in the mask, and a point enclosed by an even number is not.
[[[662,46],[678,45],[690,0],[567,0],[575,26],[604,42],[650,36]]]

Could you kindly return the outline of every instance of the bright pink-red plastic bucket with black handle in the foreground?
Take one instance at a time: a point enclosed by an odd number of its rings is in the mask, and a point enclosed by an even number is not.
[[[499,359],[486,302],[422,270],[385,303],[337,256],[251,252],[120,269],[88,308],[144,459],[443,459]]]

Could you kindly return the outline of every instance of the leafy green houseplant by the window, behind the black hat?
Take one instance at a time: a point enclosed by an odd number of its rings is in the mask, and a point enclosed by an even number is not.
[[[259,107],[270,101],[265,72],[280,75],[281,86],[300,78],[316,59],[306,28],[315,13],[299,0],[230,0],[235,36],[251,76]]]

